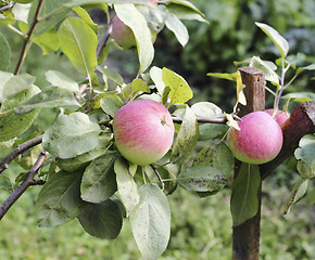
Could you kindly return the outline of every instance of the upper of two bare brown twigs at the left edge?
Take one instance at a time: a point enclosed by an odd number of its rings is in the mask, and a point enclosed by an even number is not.
[[[14,160],[18,155],[21,155],[26,150],[32,148],[33,146],[36,146],[37,144],[40,144],[42,141],[42,135],[36,136],[34,139],[30,139],[26,141],[23,144],[17,145],[14,150],[12,150],[1,161],[0,161],[0,174],[2,171],[8,169],[9,165]]]

